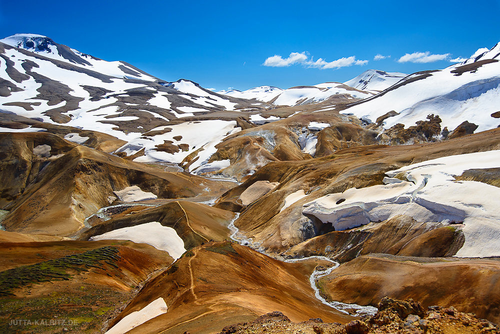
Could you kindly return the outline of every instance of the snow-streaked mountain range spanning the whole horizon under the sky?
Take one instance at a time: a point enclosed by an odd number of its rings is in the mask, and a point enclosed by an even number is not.
[[[0,40],[0,57],[3,113],[99,131],[134,143],[141,141],[142,134],[182,118],[226,122],[239,119],[237,122],[260,125],[305,110],[294,109],[279,117],[266,114],[278,106],[321,105],[322,110],[353,115],[365,124],[377,122],[383,129],[398,123],[408,127],[429,114],[438,115],[441,126],[449,130],[464,121],[474,123],[478,130],[498,125],[498,45],[442,70],[411,75],[368,70],[343,84],[329,82],[288,89],[261,86],[216,93],[186,79],[166,82],[125,62],[107,62],[41,35],[16,34]],[[236,123],[231,124],[236,127]],[[219,126],[231,132],[227,124]],[[33,126],[1,130],[40,131]],[[217,138],[222,135],[217,131],[212,134]],[[203,143],[209,141],[207,138]],[[153,142],[162,143],[150,144]],[[137,146],[128,147],[130,150]]]

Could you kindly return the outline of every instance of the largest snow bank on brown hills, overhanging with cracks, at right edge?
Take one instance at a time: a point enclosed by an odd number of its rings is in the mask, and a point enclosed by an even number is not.
[[[468,169],[500,167],[500,151],[454,155],[389,171],[385,185],[328,194],[304,204],[303,213],[335,230],[406,214],[419,222],[462,223],[465,243],[456,256],[500,255],[500,188],[455,181]],[[407,181],[393,178],[403,175]],[[460,225],[459,225],[460,226]]]

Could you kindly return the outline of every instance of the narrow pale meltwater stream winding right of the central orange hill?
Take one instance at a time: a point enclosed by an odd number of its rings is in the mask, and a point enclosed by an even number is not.
[[[234,221],[236,219],[238,219],[238,217],[239,217],[239,213],[236,213],[236,216],[231,220],[231,222],[227,226],[231,231],[233,231],[233,233],[230,235],[230,238],[242,246],[248,246],[252,242],[252,240],[246,238],[241,232],[239,232],[239,228],[234,226]],[[331,267],[326,268],[325,270],[314,269],[314,271],[312,272],[312,274],[309,277],[309,283],[310,283],[312,289],[314,290],[315,297],[318,300],[320,300],[325,305],[333,307],[336,310],[343,312],[343,313],[347,313],[347,314],[354,313],[357,316],[361,316],[364,314],[373,315],[376,313],[376,311],[378,309],[376,307],[373,307],[373,306],[361,306],[361,305],[357,305],[357,304],[346,304],[346,303],[343,303],[340,301],[327,301],[326,299],[324,299],[321,296],[321,294],[319,293],[319,289],[316,286],[316,281],[319,278],[328,275],[334,269],[338,268],[338,266],[340,265],[338,262],[333,261],[333,260],[327,258],[326,256],[309,256],[309,257],[302,257],[302,258],[294,258],[294,259],[284,260],[284,262],[296,263],[296,262],[306,261],[309,259],[319,259],[319,260],[324,260],[324,261],[328,261],[330,263],[333,263],[333,265]]]

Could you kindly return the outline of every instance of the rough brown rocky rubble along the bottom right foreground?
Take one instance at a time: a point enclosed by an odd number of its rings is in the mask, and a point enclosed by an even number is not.
[[[325,323],[321,318],[291,322],[283,313],[274,311],[250,322],[225,326],[218,334],[304,333],[304,334],[368,334],[368,333],[495,333],[500,327],[473,313],[458,312],[453,306],[429,306],[424,310],[413,299],[394,300],[384,297],[378,312],[345,325]]]

